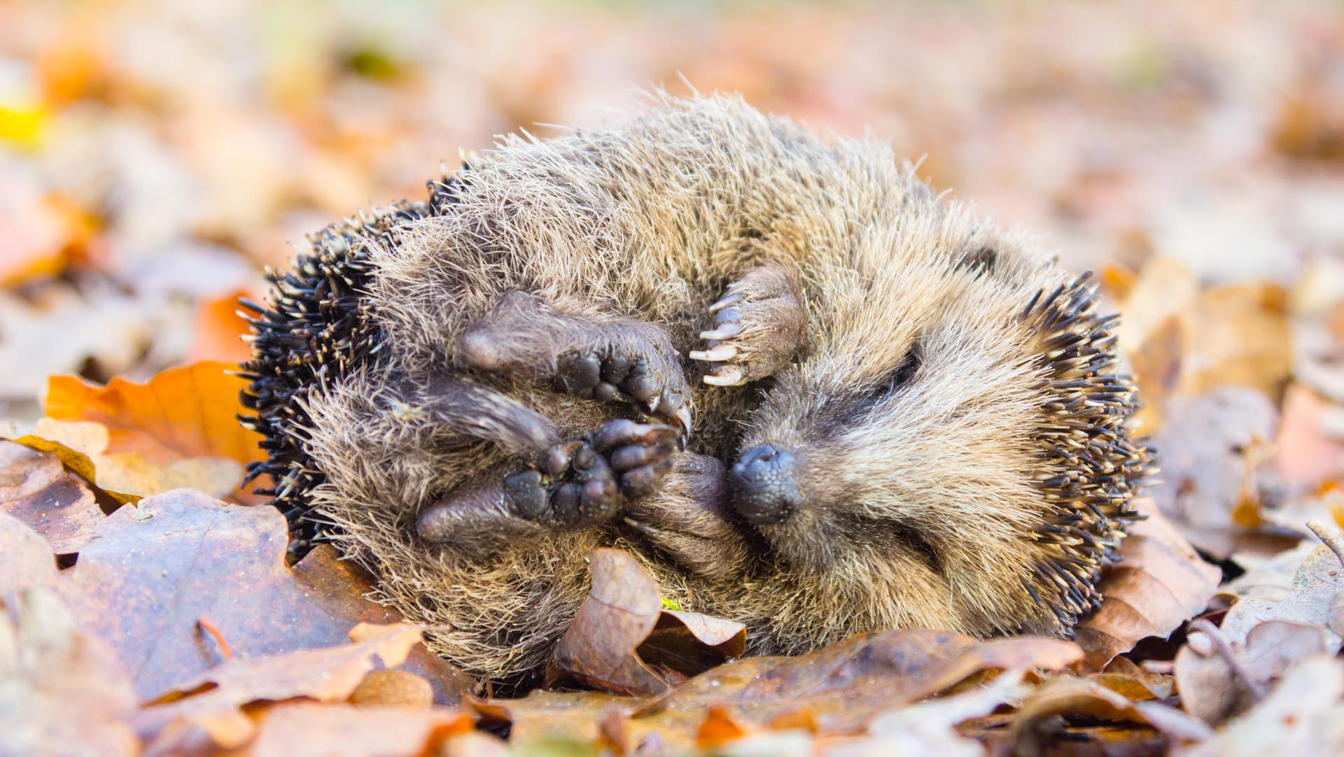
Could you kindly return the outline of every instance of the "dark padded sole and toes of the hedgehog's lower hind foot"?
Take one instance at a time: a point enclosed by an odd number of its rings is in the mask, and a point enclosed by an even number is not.
[[[657,490],[672,470],[679,434],[667,425],[613,420],[586,439],[562,442],[536,464],[504,479],[509,510],[563,526],[607,521],[626,499]]]

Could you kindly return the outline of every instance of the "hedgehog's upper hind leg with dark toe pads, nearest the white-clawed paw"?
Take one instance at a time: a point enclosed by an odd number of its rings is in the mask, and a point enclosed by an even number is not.
[[[511,291],[458,346],[473,368],[530,374],[581,397],[634,403],[689,432],[689,387],[667,332],[653,323],[570,314]]]

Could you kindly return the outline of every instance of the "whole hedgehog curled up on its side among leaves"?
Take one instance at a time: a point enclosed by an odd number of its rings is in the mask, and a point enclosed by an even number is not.
[[[1152,460],[1086,276],[737,98],[508,137],[271,281],[254,475],[297,549],[333,541],[500,683],[595,546],[757,654],[1068,635]]]

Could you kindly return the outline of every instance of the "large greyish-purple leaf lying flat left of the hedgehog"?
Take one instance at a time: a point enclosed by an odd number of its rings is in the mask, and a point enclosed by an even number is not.
[[[87,597],[85,623],[117,647],[151,698],[218,660],[196,627],[202,616],[245,658],[340,643],[360,620],[388,620],[347,583],[351,574],[333,577],[308,560],[290,570],[286,542],[273,507],[181,490],[105,518],[66,578]]]

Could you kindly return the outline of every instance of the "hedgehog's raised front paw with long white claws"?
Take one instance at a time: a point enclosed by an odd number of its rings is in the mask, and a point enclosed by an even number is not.
[[[689,357],[708,364],[704,383],[715,387],[755,381],[788,365],[808,318],[793,278],[778,266],[747,271],[710,311],[714,329],[700,333],[706,348]]]

